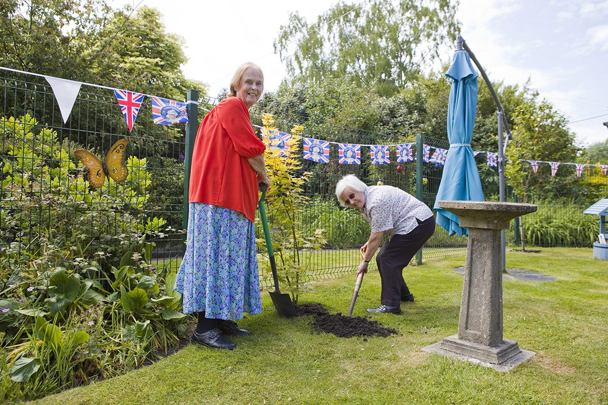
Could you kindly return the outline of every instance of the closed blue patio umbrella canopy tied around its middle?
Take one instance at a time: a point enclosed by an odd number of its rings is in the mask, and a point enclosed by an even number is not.
[[[475,156],[471,148],[475,109],[477,109],[477,72],[464,49],[457,50],[446,76],[452,87],[447,105],[447,138],[450,148],[441,175],[435,200],[437,223],[452,236],[468,234],[467,228],[458,225],[458,217],[437,206],[441,200],[483,201],[482,182],[479,179]]]

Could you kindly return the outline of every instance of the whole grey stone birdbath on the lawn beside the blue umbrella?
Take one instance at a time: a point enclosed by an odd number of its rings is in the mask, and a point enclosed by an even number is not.
[[[439,201],[438,206],[456,214],[460,226],[469,228],[465,283],[457,335],[422,350],[478,362],[499,371],[511,370],[536,353],[503,339],[500,231],[509,227],[511,219],[536,211],[536,205]]]

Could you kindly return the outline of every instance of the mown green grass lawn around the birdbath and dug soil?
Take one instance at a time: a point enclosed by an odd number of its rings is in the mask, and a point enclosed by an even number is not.
[[[255,335],[232,352],[188,345],[126,375],[48,396],[35,404],[607,404],[608,262],[590,249],[508,252],[507,266],[553,282],[505,281],[505,338],[536,352],[508,373],[421,348],[458,330],[464,257],[404,271],[416,301],[402,315],[370,316],[399,335],[337,338],[312,333],[312,318],[264,312],[240,322]],[[301,302],[348,311],[354,275],[325,280]],[[354,315],[379,305],[377,271],[364,279]]]

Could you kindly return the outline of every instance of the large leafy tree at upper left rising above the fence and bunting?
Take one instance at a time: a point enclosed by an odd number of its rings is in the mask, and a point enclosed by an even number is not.
[[[183,98],[184,40],[157,10],[105,0],[3,0],[0,66],[147,94]]]

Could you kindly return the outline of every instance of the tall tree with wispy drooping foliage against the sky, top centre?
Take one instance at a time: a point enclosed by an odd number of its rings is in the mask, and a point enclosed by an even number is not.
[[[394,94],[455,38],[456,5],[449,0],[338,2],[309,24],[289,16],[275,41],[292,80],[308,85],[337,78]]]

